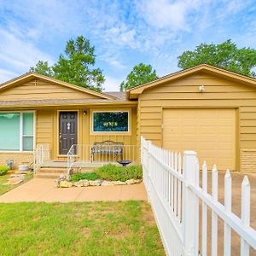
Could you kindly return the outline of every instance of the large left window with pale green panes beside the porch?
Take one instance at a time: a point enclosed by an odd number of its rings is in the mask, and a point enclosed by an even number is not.
[[[34,113],[0,113],[0,150],[32,151],[34,148]]]

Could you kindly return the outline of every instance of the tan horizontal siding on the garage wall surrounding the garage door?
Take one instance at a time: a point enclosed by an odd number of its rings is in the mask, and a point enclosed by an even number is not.
[[[200,85],[205,86],[205,93],[199,92]],[[237,109],[236,169],[247,172],[239,166],[239,159],[241,150],[256,149],[255,87],[223,79],[218,75],[196,73],[144,90],[138,101],[138,137],[146,137],[159,146],[163,145],[161,134],[164,108]],[[247,154],[247,158],[248,155],[252,154]]]

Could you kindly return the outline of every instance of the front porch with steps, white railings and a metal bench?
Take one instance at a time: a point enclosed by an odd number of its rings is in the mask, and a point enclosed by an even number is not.
[[[34,157],[34,173],[37,177],[56,178],[61,173],[92,172],[110,163],[119,165],[120,160],[128,160],[130,165],[135,165],[137,146],[122,143],[73,144],[61,159],[53,159],[51,155],[49,144],[38,144]]]

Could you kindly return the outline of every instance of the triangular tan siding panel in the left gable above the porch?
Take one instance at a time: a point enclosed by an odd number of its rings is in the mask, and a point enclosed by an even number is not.
[[[0,93],[0,101],[43,100],[43,99],[94,99],[91,94],[54,84],[43,79],[17,85]]]

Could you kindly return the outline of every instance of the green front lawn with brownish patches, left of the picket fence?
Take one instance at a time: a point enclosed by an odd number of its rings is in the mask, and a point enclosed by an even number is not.
[[[144,201],[0,204],[1,255],[165,255]]]

